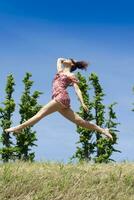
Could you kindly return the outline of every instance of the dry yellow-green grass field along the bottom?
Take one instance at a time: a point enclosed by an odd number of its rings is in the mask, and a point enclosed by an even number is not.
[[[0,200],[134,200],[134,163],[0,165]]]

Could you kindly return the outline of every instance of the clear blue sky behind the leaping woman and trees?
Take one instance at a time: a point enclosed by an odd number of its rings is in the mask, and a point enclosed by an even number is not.
[[[132,1],[0,1],[0,102],[4,100],[6,76],[13,73],[14,98],[19,103],[26,72],[35,81],[32,91],[44,92],[39,99],[51,99],[51,84],[58,57],[74,57],[91,62],[88,77],[95,72],[106,93],[104,103],[116,101],[118,144],[116,161],[133,161],[134,151],[134,13]],[[77,73],[77,72],[76,72]],[[71,106],[80,103],[74,88],[68,88]],[[19,106],[13,125],[20,120]],[[53,113],[35,124],[38,147],[36,160],[67,162],[76,150],[79,135],[76,126]]]

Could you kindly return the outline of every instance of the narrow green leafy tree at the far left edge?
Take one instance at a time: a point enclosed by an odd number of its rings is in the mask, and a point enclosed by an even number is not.
[[[12,98],[14,92],[14,78],[13,75],[10,74],[7,76],[7,84],[5,88],[6,96],[5,101],[2,102],[4,107],[0,107],[0,126],[2,127],[2,134],[1,134],[1,142],[3,147],[0,149],[1,160],[3,162],[8,162],[11,157],[14,157],[14,153],[16,149],[12,146],[13,142],[11,140],[11,136],[9,133],[5,133],[5,129],[9,128],[12,124],[12,113],[15,110],[15,102]]]

